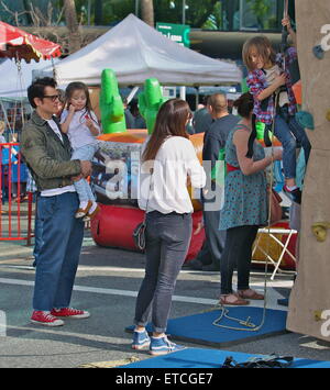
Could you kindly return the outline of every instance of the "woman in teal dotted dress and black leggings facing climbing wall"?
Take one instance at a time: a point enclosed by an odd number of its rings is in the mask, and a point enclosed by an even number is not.
[[[267,191],[265,168],[282,158],[282,151],[265,157],[262,145],[254,141],[249,151],[252,132],[253,98],[243,93],[235,102],[242,120],[231,131],[226,143],[228,175],[220,230],[227,231],[220,261],[222,304],[249,304],[248,299],[264,299],[250,289],[252,245],[260,226],[267,223]],[[249,152],[249,153],[248,153]],[[248,156],[246,156],[248,155]],[[232,290],[232,275],[238,268],[238,292]]]

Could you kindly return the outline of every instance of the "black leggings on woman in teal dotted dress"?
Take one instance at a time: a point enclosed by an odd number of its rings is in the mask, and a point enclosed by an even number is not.
[[[238,226],[227,230],[220,260],[221,294],[232,293],[232,275],[238,268],[238,290],[249,289],[252,245],[258,226]]]

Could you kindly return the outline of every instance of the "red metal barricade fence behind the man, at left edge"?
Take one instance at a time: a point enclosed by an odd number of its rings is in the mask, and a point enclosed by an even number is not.
[[[33,193],[25,189],[28,168],[19,146],[0,144],[0,241],[26,241],[31,245]]]

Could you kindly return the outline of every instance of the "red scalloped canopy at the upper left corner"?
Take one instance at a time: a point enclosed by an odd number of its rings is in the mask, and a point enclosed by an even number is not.
[[[36,62],[61,56],[61,46],[40,38],[4,22],[0,22],[0,57]]]

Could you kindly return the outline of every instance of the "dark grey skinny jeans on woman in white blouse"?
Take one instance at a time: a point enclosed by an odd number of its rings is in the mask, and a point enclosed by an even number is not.
[[[152,312],[153,331],[166,331],[172,296],[185,261],[193,230],[191,214],[146,214],[145,277],[135,307],[134,323],[145,326]]]

